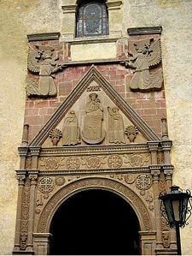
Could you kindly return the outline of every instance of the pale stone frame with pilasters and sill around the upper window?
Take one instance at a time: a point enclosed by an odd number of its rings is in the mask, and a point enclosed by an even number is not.
[[[61,1],[61,41],[86,41],[99,39],[118,39],[122,37],[123,0],[106,0],[108,8],[108,35],[97,37],[76,37],[76,15],[78,11],[78,0]]]

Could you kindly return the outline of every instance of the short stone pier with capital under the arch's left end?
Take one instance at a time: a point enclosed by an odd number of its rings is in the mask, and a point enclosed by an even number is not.
[[[34,233],[34,252],[36,255],[49,255],[50,233]]]

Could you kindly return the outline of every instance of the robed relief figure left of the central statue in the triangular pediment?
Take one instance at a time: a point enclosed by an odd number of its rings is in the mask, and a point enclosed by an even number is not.
[[[74,110],[70,110],[63,123],[63,146],[77,145],[80,142],[79,122]]]

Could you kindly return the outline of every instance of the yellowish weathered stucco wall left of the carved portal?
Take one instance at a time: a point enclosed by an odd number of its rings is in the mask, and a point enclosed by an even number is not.
[[[0,1],[0,254],[11,254],[15,238],[15,170],[25,107],[29,33],[58,32],[57,1]]]

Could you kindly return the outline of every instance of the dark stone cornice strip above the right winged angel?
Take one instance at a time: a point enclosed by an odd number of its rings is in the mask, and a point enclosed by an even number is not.
[[[127,33],[131,35],[140,34],[160,34],[162,32],[162,27],[130,27],[127,28]]]

